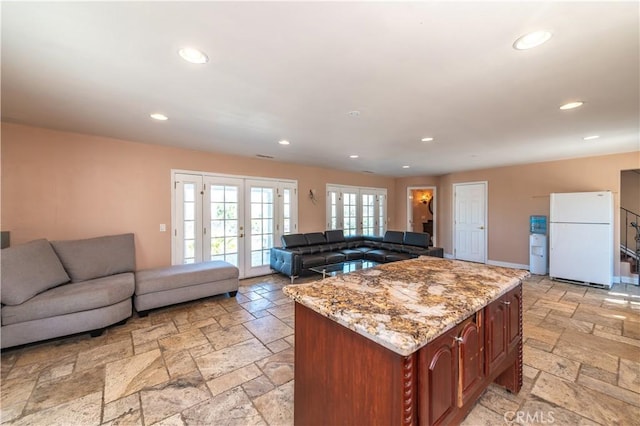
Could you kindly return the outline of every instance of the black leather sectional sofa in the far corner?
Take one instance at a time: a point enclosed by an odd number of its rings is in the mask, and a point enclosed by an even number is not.
[[[395,262],[418,256],[443,257],[439,247],[429,247],[430,235],[418,232],[387,231],[384,237],[345,237],[342,230],[282,236],[282,247],[271,249],[270,266],[291,278],[309,268],[349,260]]]

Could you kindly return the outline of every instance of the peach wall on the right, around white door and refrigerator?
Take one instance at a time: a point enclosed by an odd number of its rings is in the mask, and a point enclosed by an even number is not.
[[[614,193],[615,229],[619,227],[620,171],[640,166],[640,152],[501,167],[442,176],[438,187],[441,244],[452,253],[454,183],[488,182],[488,253],[490,261],[529,263],[529,216],[549,216],[549,194],[609,190]],[[619,245],[616,232],[615,245]],[[615,251],[617,252],[617,251]],[[619,274],[619,262],[615,262]]]

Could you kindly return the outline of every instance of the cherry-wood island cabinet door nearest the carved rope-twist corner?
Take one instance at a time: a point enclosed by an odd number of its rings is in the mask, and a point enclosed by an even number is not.
[[[420,373],[418,379],[418,416],[421,423],[448,424],[457,413],[458,351],[455,338],[455,330],[443,334],[429,343],[425,352],[420,352],[420,371],[427,370],[427,374]]]

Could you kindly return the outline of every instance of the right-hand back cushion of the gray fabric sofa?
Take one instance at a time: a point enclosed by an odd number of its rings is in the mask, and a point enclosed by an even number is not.
[[[136,269],[133,234],[53,241],[51,245],[72,282],[133,272]]]

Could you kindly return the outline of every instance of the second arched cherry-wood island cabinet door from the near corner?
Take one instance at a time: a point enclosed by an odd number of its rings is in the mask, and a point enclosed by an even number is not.
[[[458,407],[473,397],[484,379],[483,328],[469,320],[461,325],[458,335]]]

